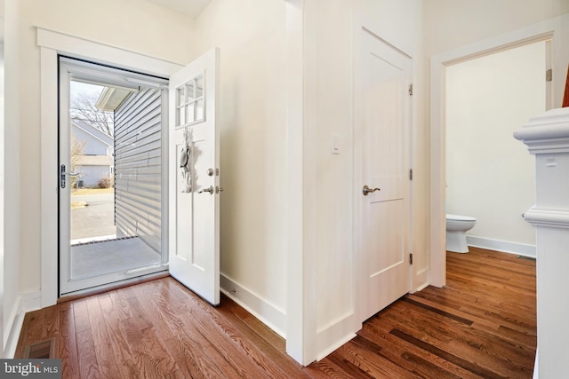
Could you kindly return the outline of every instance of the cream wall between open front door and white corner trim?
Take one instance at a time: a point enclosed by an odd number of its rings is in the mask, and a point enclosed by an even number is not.
[[[213,0],[196,18],[196,51],[220,48],[221,286],[282,335],[285,32],[282,0]]]

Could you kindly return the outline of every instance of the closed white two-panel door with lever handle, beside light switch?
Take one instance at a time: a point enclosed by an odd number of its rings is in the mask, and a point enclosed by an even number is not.
[[[355,80],[355,225],[361,320],[410,288],[412,60],[358,30]]]

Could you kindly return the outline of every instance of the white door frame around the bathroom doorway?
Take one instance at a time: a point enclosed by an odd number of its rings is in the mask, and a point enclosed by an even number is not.
[[[552,39],[552,68],[554,74],[552,104],[562,99],[565,85],[566,62],[569,51],[562,41],[569,41],[569,14],[545,20],[501,36],[471,43],[453,51],[435,55],[430,59],[430,267],[429,283],[436,287],[446,285],[446,149],[445,149],[445,68],[456,63],[504,51],[527,43]],[[561,34],[564,33],[563,36]],[[545,75],[545,74],[544,74]],[[563,76],[563,80],[556,80]],[[521,125],[520,125],[521,126]],[[513,137],[512,137],[513,138]]]

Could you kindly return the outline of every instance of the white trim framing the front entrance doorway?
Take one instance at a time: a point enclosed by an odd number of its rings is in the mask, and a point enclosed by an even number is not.
[[[58,298],[58,54],[169,77],[182,65],[37,28],[41,75],[41,307]],[[167,156],[167,154],[164,154]]]

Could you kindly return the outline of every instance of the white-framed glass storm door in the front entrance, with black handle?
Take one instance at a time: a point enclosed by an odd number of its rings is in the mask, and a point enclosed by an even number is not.
[[[167,84],[60,57],[60,296],[167,270]]]

